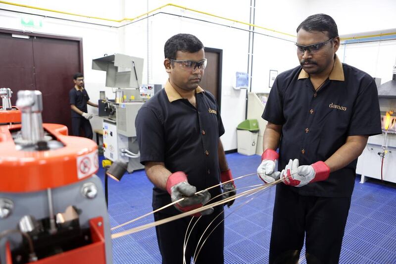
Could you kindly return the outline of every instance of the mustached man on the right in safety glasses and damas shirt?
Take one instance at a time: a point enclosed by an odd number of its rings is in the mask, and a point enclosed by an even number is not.
[[[377,88],[367,73],[341,63],[330,16],[307,17],[296,46],[300,66],[276,78],[262,115],[268,124],[257,172],[266,183],[284,179],[276,187],[269,263],[297,264],[305,238],[308,264],[335,264],[357,158],[368,136],[381,134]]]

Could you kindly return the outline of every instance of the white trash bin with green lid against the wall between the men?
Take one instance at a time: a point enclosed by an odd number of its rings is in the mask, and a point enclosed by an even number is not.
[[[247,119],[237,126],[238,153],[247,156],[256,154],[258,131],[257,119]]]

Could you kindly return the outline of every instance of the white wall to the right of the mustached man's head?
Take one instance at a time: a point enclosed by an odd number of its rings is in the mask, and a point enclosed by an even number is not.
[[[307,0],[307,15],[326,13],[334,18],[340,36],[353,33],[396,31],[395,0]],[[360,34],[361,35],[361,34]],[[365,35],[365,34],[363,34]],[[357,67],[381,83],[392,79],[396,59],[396,41],[347,44],[337,53],[341,61]]]

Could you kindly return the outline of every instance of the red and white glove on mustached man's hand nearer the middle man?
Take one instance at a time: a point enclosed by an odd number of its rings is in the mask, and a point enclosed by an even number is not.
[[[258,177],[265,183],[271,183],[277,179],[281,173],[274,171],[279,154],[271,149],[266,149],[261,155],[261,164],[257,168]]]

